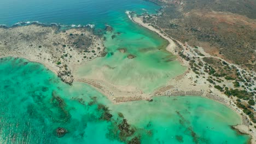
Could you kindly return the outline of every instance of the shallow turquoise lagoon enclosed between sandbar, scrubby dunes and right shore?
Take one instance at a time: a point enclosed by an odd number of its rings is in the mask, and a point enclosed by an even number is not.
[[[76,74],[78,77],[98,79],[102,76],[115,85],[133,86],[150,93],[172,77],[184,73],[186,68],[178,61],[168,61],[174,57],[171,53],[159,50],[166,47],[165,40],[130,20],[125,22],[126,25],[114,26],[115,32],[121,32],[117,38],[111,38],[113,33],[106,34],[107,56],[81,67]],[[119,52],[120,48],[126,48],[127,52]],[[130,54],[136,57],[127,58]]]

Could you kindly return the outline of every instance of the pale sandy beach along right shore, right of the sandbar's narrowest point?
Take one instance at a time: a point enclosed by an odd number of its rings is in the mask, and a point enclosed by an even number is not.
[[[169,52],[174,53],[174,55],[178,56],[178,60],[182,62],[183,65],[187,66],[189,68],[189,64],[185,59],[179,57],[178,52],[176,51],[177,45],[173,42],[173,40],[169,35],[167,35],[165,32],[160,31],[159,29],[154,28],[150,23],[144,23],[142,20],[142,17],[131,17],[132,21],[137,23],[138,25],[141,25],[145,28],[148,28],[150,31],[153,31],[160,35],[160,37],[168,40],[169,44],[166,47],[166,50]],[[158,26],[156,26],[158,27]],[[198,56],[196,53],[191,51],[192,47],[188,44],[182,44],[180,41],[175,40],[179,45],[183,47],[183,52],[186,53],[188,56],[193,57]],[[199,47],[199,51],[203,53],[203,55],[207,57],[212,57],[210,54],[206,53],[201,47]],[[222,59],[225,61],[224,59]],[[226,62],[229,63],[229,62]],[[234,65],[234,64],[231,64]],[[235,65],[237,67],[237,65]],[[238,70],[242,70],[240,67],[237,67]],[[207,77],[207,76],[205,76]],[[249,120],[248,116],[243,113],[241,109],[239,109],[235,104],[235,97],[226,97],[226,95],[220,91],[218,91],[216,88],[208,84],[208,81],[203,77],[196,77],[196,74],[190,70],[190,68],[182,75],[179,75],[177,77],[174,77],[172,80],[168,82],[166,85],[166,88],[163,87],[156,90],[154,93],[158,93],[158,96],[161,95],[200,95],[202,97],[210,98],[215,101],[218,101],[221,104],[224,104],[230,109],[237,112],[237,114],[241,117],[242,124],[234,126],[238,131],[244,134],[251,135],[251,143],[256,143],[256,133],[254,131],[251,131],[251,129],[254,129],[253,125],[250,125],[251,121]],[[194,93],[194,94],[193,94]],[[208,96],[207,96],[208,95]]]

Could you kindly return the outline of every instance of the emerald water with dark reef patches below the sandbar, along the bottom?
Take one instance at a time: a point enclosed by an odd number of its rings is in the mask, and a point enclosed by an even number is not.
[[[0,143],[246,143],[236,113],[200,97],[158,97],[115,105],[84,83],[66,85],[25,59],[0,59]],[[53,94],[54,93],[54,94]],[[113,117],[105,119],[108,107]],[[135,133],[120,139],[123,113]],[[58,138],[56,128],[68,133]],[[121,141],[123,140],[123,141]]]

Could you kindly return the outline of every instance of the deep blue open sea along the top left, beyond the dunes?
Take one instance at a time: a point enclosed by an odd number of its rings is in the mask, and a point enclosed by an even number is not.
[[[159,8],[141,0],[1,0],[0,24],[11,26],[20,21],[39,21],[61,25],[91,23],[102,27],[115,23],[126,10],[154,13]]]

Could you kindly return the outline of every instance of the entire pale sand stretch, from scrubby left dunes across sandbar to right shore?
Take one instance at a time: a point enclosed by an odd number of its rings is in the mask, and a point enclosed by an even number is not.
[[[142,27],[148,28],[150,31],[156,32],[160,37],[166,39],[169,44],[166,50],[177,55],[177,59],[186,67],[189,68],[189,62],[179,57],[177,48],[171,37],[162,33],[159,29],[156,29],[149,25],[149,23],[143,23],[140,17],[132,17],[133,22],[136,22]],[[10,29],[0,28],[0,57],[21,57],[26,58],[32,62],[38,62],[45,65],[51,71],[54,71],[63,81],[66,83],[72,83],[73,81],[84,82],[88,85],[96,88],[98,91],[106,95],[113,103],[125,103],[126,101],[135,100],[152,100],[152,97],[160,96],[178,96],[178,95],[195,95],[209,98],[219,103],[222,103],[230,109],[236,111],[241,116],[242,124],[237,125],[236,128],[242,133],[246,133],[252,136],[252,143],[256,142],[256,134],[252,133],[249,129],[253,129],[253,125],[249,125],[249,118],[241,109],[238,109],[234,104],[235,98],[232,99],[226,97],[222,92],[219,92],[203,77],[196,77],[196,74],[190,70],[185,71],[184,74],[170,79],[166,86],[156,88],[153,93],[144,93],[141,89],[136,87],[123,87],[102,81],[97,79],[98,76],[92,77],[92,79],[84,79],[83,77],[77,77],[73,75],[73,72],[81,65],[91,61],[96,57],[100,57],[104,50],[104,45],[101,38],[86,31],[85,29],[69,29],[65,32],[56,33],[56,29],[53,27],[43,27],[37,25],[30,25],[24,27],[15,27]],[[12,38],[5,38],[4,34],[8,33],[13,35]],[[18,34],[19,33],[19,34]],[[20,34],[21,33],[21,34]],[[38,37],[37,34],[42,35],[44,39],[30,39],[28,40],[26,35],[33,33],[31,37]],[[16,36],[19,35],[19,36]],[[91,41],[86,46],[86,49],[81,48],[76,39],[84,38]],[[21,39],[21,43],[16,43],[15,39]],[[6,42],[8,41],[8,43]],[[176,40],[175,40],[176,41]],[[184,53],[189,56],[197,56],[196,53],[191,51],[191,47],[187,44],[182,44],[176,41],[184,49]],[[85,44],[86,45],[86,44]],[[83,48],[83,47],[82,47]],[[200,49],[202,53],[209,56],[206,52]],[[207,77],[207,76],[205,76]]]

